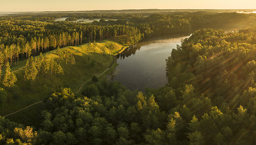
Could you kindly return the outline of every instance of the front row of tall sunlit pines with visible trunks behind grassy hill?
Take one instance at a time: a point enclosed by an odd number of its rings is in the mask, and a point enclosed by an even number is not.
[[[4,45],[6,39],[2,39],[2,45],[0,45],[0,55],[1,64],[5,65],[10,62],[18,65],[19,56],[29,58],[30,56],[39,55],[40,52],[47,52],[52,49],[66,47],[70,45],[79,45],[82,43],[82,32],[73,32],[72,35],[62,32],[58,35],[50,35],[48,37],[42,38],[31,38],[30,41],[25,41],[25,39],[14,37],[9,37],[7,39],[12,39],[14,43],[11,45]]]

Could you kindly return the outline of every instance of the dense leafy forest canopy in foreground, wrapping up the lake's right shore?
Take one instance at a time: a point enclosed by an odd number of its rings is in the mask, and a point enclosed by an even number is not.
[[[166,87],[143,94],[101,81],[81,96],[65,88],[44,100],[39,130],[9,122],[2,141],[255,144],[255,35],[256,28],[196,31],[168,58]]]

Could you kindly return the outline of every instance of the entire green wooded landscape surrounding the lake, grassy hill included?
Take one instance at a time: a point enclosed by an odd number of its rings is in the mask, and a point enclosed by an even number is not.
[[[98,15],[108,17],[54,21]],[[255,18],[235,12],[2,16],[0,106],[22,101],[21,94],[46,95],[34,124],[0,117],[0,144],[255,144]],[[167,58],[165,87],[131,91],[93,76],[81,93],[71,89],[85,75],[79,69],[107,68],[104,62],[124,47],[177,32],[193,34]]]

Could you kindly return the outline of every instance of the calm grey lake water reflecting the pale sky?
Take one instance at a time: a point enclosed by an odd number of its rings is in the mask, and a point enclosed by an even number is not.
[[[167,83],[166,62],[171,50],[189,35],[150,38],[118,55],[119,64],[109,80],[121,82],[130,90],[164,87]]]

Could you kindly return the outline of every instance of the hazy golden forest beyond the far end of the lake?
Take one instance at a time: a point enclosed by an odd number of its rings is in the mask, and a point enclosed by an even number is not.
[[[189,32],[203,28],[234,29],[254,25],[256,16],[238,13],[174,12],[130,19],[145,36]],[[114,22],[113,22],[114,23]]]

